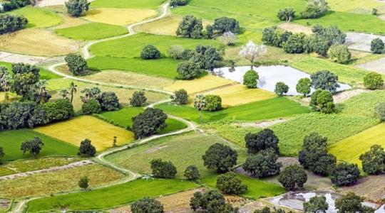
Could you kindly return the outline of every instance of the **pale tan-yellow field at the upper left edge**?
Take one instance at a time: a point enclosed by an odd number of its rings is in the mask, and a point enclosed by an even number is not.
[[[24,29],[0,36],[0,50],[26,55],[66,55],[78,50],[80,43],[43,29]]]

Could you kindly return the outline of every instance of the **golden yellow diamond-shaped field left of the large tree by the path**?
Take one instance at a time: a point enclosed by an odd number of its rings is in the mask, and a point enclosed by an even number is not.
[[[91,140],[96,151],[103,151],[113,145],[113,136],[118,137],[118,145],[133,141],[133,132],[108,124],[93,116],[80,116],[68,121],[41,126],[35,131],[46,134],[61,141],[80,146],[81,141]]]

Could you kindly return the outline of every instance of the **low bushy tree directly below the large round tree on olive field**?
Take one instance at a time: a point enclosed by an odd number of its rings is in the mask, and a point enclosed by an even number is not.
[[[233,172],[218,175],[217,189],[225,194],[240,195],[247,191],[247,186],[242,185],[242,180]]]

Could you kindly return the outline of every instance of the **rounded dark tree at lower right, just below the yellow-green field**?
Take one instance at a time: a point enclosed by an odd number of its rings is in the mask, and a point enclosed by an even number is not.
[[[332,173],[332,182],[337,186],[353,185],[359,179],[359,168],[356,164],[338,163]]]

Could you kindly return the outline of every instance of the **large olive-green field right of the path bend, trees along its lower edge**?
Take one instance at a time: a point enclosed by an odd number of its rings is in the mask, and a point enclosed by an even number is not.
[[[182,136],[160,138],[126,151],[108,155],[106,159],[123,168],[129,168],[137,173],[150,174],[150,161],[156,158],[170,160],[177,168],[177,178],[183,178],[183,172],[188,165],[196,165],[202,177],[209,175],[210,170],[203,166],[202,155],[214,143],[225,143],[221,138],[199,133],[186,133]],[[229,145],[229,144],[227,144]],[[236,148],[232,146],[232,148]],[[237,163],[243,163],[247,154],[238,150]]]

